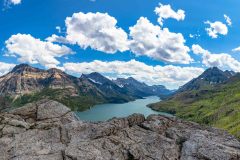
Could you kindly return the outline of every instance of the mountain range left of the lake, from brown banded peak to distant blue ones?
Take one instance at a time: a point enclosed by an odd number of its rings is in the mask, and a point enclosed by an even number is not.
[[[55,68],[43,70],[20,64],[0,77],[0,110],[48,98],[83,111],[95,104],[170,93],[164,86],[148,86],[133,78],[110,80],[96,72],[77,78]]]

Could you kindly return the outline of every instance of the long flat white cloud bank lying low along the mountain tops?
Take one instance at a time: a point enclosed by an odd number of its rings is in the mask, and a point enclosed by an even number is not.
[[[169,88],[177,88],[203,72],[202,68],[173,65],[150,66],[136,60],[127,62],[95,60],[93,62],[65,63],[63,67],[67,72],[74,74],[99,72],[110,78],[131,76],[148,84],[163,84]]]

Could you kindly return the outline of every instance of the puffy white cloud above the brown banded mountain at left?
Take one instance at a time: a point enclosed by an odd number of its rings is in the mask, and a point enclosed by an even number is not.
[[[57,67],[60,62],[56,59],[72,54],[72,50],[64,45],[41,41],[29,34],[12,35],[6,42],[7,54],[17,56],[21,63],[41,64],[46,68]]]

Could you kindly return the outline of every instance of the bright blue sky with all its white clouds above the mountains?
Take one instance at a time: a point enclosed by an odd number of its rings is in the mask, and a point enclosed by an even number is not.
[[[176,89],[240,71],[238,0],[0,0],[0,75],[27,63]]]

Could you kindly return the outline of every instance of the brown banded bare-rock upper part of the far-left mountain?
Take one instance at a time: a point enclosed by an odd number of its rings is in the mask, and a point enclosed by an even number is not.
[[[13,68],[10,73],[0,77],[0,95],[20,96],[41,91],[46,87],[75,90],[77,82],[77,78],[58,69],[45,71],[21,64]]]

